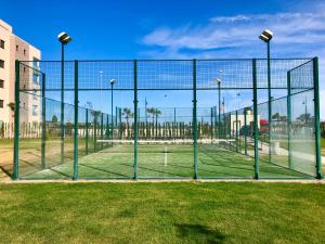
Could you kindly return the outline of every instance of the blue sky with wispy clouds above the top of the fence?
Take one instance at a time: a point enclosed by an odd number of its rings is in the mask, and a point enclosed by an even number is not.
[[[325,98],[325,1],[2,0],[0,18],[43,60],[60,59],[62,30],[74,37],[69,60],[263,57],[257,36],[266,27],[274,31],[273,56],[320,56]]]

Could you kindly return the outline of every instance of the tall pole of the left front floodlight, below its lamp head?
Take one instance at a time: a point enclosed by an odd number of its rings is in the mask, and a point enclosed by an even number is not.
[[[61,42],[61,164],[64,163],[64,43]]]

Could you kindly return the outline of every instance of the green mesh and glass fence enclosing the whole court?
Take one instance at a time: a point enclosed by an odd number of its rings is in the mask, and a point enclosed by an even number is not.
[[[270,63],[17,62],[13,178],[321,178],[317,60]]]

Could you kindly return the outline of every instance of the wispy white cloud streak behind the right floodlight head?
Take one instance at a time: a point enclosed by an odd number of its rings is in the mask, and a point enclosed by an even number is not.
[[[146,35],[142,42],[173,50],[243,47],[256,41],[260,31],[268,27],[275,31],[275,43],[320,43],[325,41],[324,22],[323,13],[218,16],[204,26],[159,27]]]

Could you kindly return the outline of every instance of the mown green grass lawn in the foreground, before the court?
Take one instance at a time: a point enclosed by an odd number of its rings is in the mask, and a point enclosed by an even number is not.
[[[324,243],[325,185],[0,184],[1,243]]]

